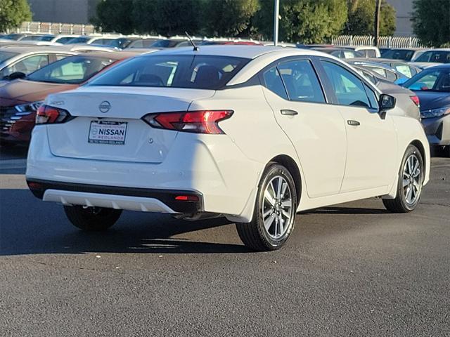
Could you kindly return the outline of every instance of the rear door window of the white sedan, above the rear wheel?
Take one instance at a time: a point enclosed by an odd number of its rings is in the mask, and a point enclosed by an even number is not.
[[[290,100],[325,103],[322,88],[309,60],[296,60],[278,66]]]

